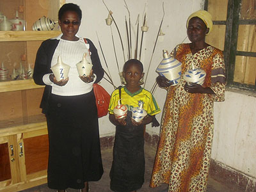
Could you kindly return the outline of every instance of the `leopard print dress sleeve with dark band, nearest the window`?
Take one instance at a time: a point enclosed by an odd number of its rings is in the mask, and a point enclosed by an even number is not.
[[[221,51],[213,58],[210,88],[215,93],[211,95],[214,101],[225,100],[225,64]]]

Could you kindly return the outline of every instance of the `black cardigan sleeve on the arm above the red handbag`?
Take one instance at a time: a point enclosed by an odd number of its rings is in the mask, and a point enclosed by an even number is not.
[[[104,70],[100,63],[100,58],[99,58],[99,54],[96,47],[94,46],[93,42],[90,39],[86,38],[86,40],[90,45],[90,51],[92,52],[91,54],[91,59],[93,64],[92,70],[93,70],[93,74],[96,74],[97,76],[95,83],[98,83],[104,76]]]

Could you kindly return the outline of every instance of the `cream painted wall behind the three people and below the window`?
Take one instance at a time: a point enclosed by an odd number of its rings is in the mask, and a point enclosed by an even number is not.
[[[78,35],[90,38],[98,49],[102,66],[106,69],[106,65],[102,58],[99,43],[96,36],[96,31],[100,38],[100,43],[104,51],[108,67],[113,77],[116,86],[120,85],[118,70],[116,67],[115,55],[111,41],[111,32],[109,26],[106,26],[105,20],[108,16],[104,4],[101,0],[84,1],[73,0],[66,1],[67,3],[76,3],[83,10],[82,24]],[[126,37],[125,37],[125,15],[128,18],[127,10],[124,7],[124,1],[105,0],[109,10],[113,12],[113,17],[120,28],[122,39],[125,45],[126,52]],[[151,67],[148,73],[147,83],[145,88],[150,90],[157,77],[155,72],[157,65],[162,60],[162,50],[168,49],[172,51],[175,45],[179,44],[186,37],[186,19],[188,15],[203,7],[203,0],[180,0],[180,1],[164,1],[165,16],[163,20],[162,30],[166,35],[164,41],[158,41],[151,62]],[[156,40],[157,31],[161,19],[163,17],[163,1],[149,0],[127,0],[127,5],[131,12],[132,25],[135,26],[136,18],[140,13],[140,22],[142,20],[143,10],[146,6],[148,32],[144,34],[143,40],[143,55],[142,60],[145,72],[147,72],[154,42]],[[118,62],[120,70],[124,64],[120,40],[116,33],[116,28],[112,24],[113,36],[115,39],[116,51],[118,54]],[[134,39],[134,36],[132,36]],[[188,42],[186,38],[185,42]],[[132,45],[134,47],[134,44]],[[113,86],[102,80],[101,83],[109,93],[113,92]],[[163,109],[166,91],[157,88],[154,93],[159,107]],[[251,175],[256,178],[256,115],[254,113],[256,107],[256,98],[240,93],[226,92],[225,102],[216,102],[214,107],[214,141],[212,146],[212,159],[220,161],[227,166],[235,168],[240,172]],[[161,114],[157,115],[157,119],[161,120]],[[108,117],[100,118],[100,137],[113,136],[115,127],[109,123]],[[159,134],[159,127],[152,128],[147,126],[147,132],[150,134]]]

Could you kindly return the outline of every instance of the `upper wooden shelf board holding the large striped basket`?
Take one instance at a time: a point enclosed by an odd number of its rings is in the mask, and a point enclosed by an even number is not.
[[[0,42],[42,41],[60,34],[61,31],[0,31]]]

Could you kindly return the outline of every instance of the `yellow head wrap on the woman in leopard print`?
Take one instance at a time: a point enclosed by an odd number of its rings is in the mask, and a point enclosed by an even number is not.
[[[209,32],[206,34],[206,35],[208,35],[212,30],[212,15],[209,12],[205,11],[205,10],[199,10],[195,13],[192,13],[188,17],[187,28],[188,28],[189,20],[193,17],[199,17],[200,19],[202,19],[204,21],[206,27],[209,28]]]

